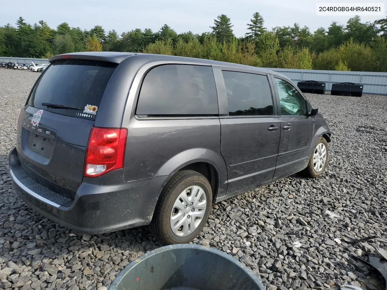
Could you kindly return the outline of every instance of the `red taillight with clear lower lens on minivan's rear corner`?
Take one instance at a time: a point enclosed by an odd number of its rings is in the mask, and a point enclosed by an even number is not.
[[[123,168],[127,129],[93,127],[86,149],[84,176],[98,177]]]

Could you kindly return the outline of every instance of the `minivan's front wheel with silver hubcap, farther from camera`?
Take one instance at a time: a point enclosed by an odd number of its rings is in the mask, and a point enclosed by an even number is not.
[[[303,175],[312,178],[317,178],[322,175],[328,163],[328,155],[329,150],[327,140],[325,140],[324,137],[320,137],[310,156],[308,167],[302,171]]]

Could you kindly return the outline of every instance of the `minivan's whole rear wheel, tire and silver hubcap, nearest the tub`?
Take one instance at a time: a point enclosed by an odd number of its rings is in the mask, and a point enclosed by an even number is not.
[[[207,222],[211,206],[209,181],[199,172],[179,171],[161,193],[151,232],[166,245],[191,242]]]

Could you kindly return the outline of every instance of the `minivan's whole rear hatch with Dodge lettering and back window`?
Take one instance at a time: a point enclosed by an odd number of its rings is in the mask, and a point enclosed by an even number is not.
[[[74,198],[98,107],[117,64],[65,59],[38,78],[18,126],[24,170],[51,190]]]

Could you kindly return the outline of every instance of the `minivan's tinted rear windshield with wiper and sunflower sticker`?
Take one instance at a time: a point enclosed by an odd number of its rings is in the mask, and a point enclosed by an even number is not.
[[[53,63],[36,82],[29,96],[32,107],[58,114],[94,119],[115,63],[63,60]],[[47,107],[45,103],[72,109]]]

